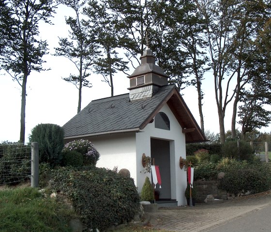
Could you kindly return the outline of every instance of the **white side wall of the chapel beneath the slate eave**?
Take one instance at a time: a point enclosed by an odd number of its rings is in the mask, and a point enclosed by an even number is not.
[[[136,183],[135,132],[92,137],[90,141],[101,155],[97,167],[113,170],[115,166],[118,166],[118,170],[128,169]]]

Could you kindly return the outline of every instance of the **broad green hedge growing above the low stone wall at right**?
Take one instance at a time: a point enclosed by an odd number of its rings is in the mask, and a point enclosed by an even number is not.
[[[254,194],[271,189],[271,164],[229,158],[197,165],[194,180],[216,180],[219,172],[225,173],[219,180],[219,188],[231,193],[250,191]]]

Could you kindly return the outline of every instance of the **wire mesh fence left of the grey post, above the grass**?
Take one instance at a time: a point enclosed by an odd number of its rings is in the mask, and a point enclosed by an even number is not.
[[[30,180],[31,146],[22,143],[0,144],[0,185]]]

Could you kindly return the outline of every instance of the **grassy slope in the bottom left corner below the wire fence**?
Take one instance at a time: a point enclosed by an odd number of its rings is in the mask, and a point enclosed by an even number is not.
[[[0,191],[0,232],[70,232],[71,210],[31,187]]]

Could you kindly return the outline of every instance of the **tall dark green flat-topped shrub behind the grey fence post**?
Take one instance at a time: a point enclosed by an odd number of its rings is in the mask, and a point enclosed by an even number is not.
[[[39,143],[39,161],[56,166],[61,161],[61,150],[64,146],[64,131],[56,124],[38,124],[29,137],[30,142]]]

